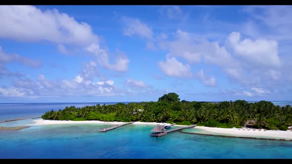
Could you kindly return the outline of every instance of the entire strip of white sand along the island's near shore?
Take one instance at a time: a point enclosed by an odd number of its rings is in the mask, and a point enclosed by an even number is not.
[[[26,126],[34,125],[58,125],[58,124],[108,124],[120,125],[124,122],[104,122],[104,121],[59,121],[59,120],[33,120],[34,123],[26,124]],[[138,125],[163,125],[163,123],[149,123],[149,122],[134,122]],[[187,125],[173,125],[173,126],[187,126]],[[249,129],[249,130],[248,130]],[[180,130],[182,133],[220,136],[220,137],[234,137],[234,138],[248,138],[248,139],[267,139],[267,140],[282,140],[292,141],[292,131],[282,130],[266,130],[264,129],[251,129],[251,128],[220,128],[220,127],[207,127],[195,126],[188,130]]]

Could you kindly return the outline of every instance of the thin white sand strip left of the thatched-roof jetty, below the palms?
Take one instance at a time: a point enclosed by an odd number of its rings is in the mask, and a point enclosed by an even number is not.
[[[124,122],[103,122],[103,121],[65,121],[65,120],[33,120],[33,124],[27,124],[27,126],[33,125],[54,125],[54,124],[110,124],[110,125],[119,125]],[[162,125],[163,123],[148,123],[148,122],[134,122],[133,124],[141,124],[141,125]],[[177,125],[174,126],[187,126],[187,125]]]

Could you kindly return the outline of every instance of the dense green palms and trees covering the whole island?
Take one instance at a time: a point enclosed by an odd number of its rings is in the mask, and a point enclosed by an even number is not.
[[[97,104],[83,108],[71,106],[59,111],[46,112],[42,118],[73,121],[167,122],[186,125],[197,123],[224,128],[241,127],[247,120],[254,120],[253,127],[285,130],[287,126],[292,125],[292,107],[275,106],[268,101],[256,103],[244,100],[219,103],[180,101],[179,95],[168,93],[157,102]]]

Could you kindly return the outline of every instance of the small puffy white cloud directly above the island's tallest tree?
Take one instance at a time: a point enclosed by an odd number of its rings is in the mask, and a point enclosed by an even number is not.
[[[169,77],[192,77],[190,71],[190,66],[188,64],[183,65],[183,63],[176,60],[175,57],[166,56],[166,61],[159,61],[158,65],[162,72]]]

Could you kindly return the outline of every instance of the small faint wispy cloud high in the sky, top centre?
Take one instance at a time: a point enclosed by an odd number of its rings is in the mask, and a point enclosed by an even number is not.
[[[142,38],[152,39],[152,30],[145,23],[142,23],[139,19],[123,17],[122,21],[126,26],[124,28],[124,35],[138,35]]]

